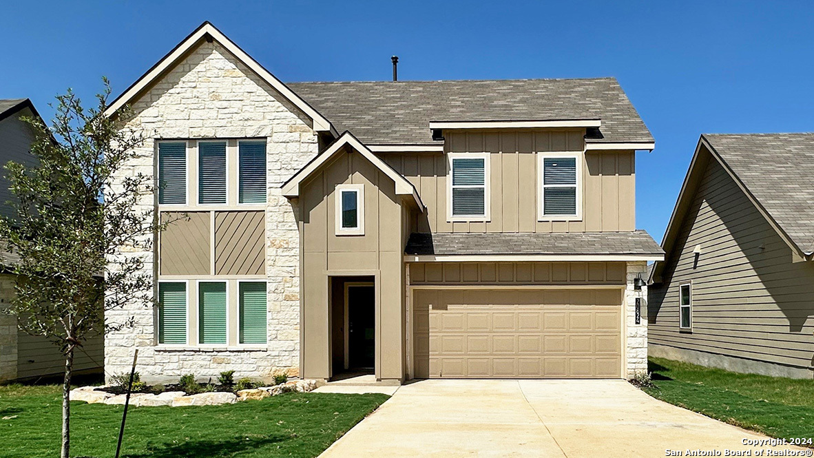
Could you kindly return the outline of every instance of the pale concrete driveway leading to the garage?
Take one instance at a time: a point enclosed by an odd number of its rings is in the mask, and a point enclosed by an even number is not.
[[[624,381],[427,380],[401,386],[322,457],[656,457],[765,438]],[[791,447],[774,447],[776,450]],[[764,454],[765,456],[765,454]],[[808,455],[810,456],[810,455]]]

